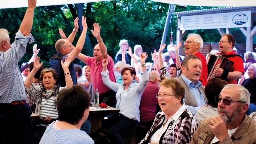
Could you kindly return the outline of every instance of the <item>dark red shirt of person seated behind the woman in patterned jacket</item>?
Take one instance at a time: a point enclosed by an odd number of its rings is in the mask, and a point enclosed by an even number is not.
[[[140,100],[140,122],[147,123],[154,120],[158,104],[156,94],[158,86],[151,81],[148,82]]]

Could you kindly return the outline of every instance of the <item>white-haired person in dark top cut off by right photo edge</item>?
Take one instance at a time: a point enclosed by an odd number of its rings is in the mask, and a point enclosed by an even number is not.
[[[250,65],[248,68],[249,78],[244,80],[242,85],[251,93],[251,103],[249,109],[246,111],[247,115],[250,115],[252,112],[256,111],[256,68],[254,65]]]

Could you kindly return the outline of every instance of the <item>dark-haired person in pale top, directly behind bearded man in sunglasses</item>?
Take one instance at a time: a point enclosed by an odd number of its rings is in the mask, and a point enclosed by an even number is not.
[[[206,117],[218,116],[218,103],[215,102],[215,97],[219,96],[221,90],[227,84],[227,81],[221,80],[220,78],[212,78],[207,82],[204,91],[208,101],[205,106],[199,108],[196,112],[196,120],[198,124],[200,124]]]

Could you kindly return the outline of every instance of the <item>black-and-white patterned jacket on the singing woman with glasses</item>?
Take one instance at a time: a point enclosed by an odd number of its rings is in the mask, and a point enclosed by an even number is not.
[[[165,116],[163,112],[158,112],[146,137],[140,144],[148,144],[151,136],[163,125]],[[193,133],[197,129],[195,116],[186,109],[178,120],[172,121],[167,130],[161,136],[159,144],[186,144],[189,143]]]

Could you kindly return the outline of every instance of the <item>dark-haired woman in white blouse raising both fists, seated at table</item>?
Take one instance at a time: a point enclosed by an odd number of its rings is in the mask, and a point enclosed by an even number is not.
[[[103,83],[110,89],[116,92],[116,108],[120,109],[120,112],[111,118],[103,121],[103,127],[107,126],[107,136],[111,143],[124,144],[120,135],[124,132],[132,132],[140,122],[140,98],[148,84],[148,72],[146,71],[145,60],[147,53],[140,54],[141,61],[141,81],[140,83],[133,83],[136,72],[135,69],[124,68],[121,72],[123,78],[123,84],[117,84],[110,81],[108,76],[108,60],[102,60],[102,80]]]

